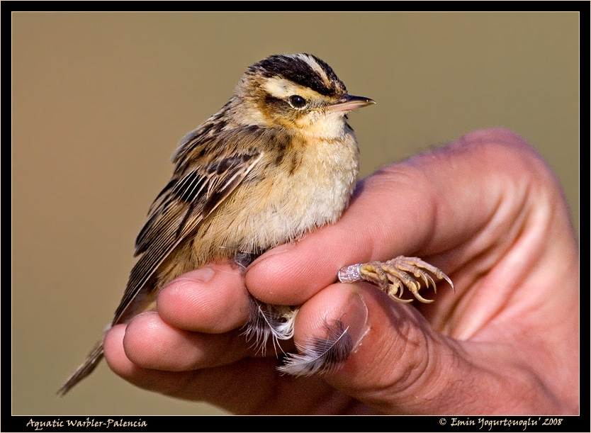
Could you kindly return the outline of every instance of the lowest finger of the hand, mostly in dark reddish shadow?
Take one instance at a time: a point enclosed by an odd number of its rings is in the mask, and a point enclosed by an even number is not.
[[[367,408],[334,391],[322,378],[280,376],[274,358],[245,358],[190,371],[138,366],[125,349],[125,326],[117,325],[106,334],[105,358],[118,376],[135,386],[175,398],[205,400],[237,414],[367,413]]]

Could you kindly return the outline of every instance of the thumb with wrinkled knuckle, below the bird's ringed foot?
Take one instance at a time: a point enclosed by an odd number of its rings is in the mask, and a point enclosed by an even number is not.
[[[368,283],[335,283],[300,308],[295,344],[327,337],[337,321],[353,349],[324,374],[331,386],[383,413],[466,412],[473,366],[461,344],[432,330],[416,308]]]

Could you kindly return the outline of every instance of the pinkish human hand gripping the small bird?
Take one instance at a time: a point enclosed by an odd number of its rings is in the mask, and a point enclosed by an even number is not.
[[[421,257],[456,292],[392,302],[334,283],[358,262]],[[342,317],[356,342],[342,368],[294,378],[241,335],[247,291],[303,304],[295,343]],[[244,277],[210,264],[179,277],[108,332],[111,369],[137,386],[237,413],[573,414],[578,412],[578,247],[558,181],[505,130],[378,171],[334,225],[272,249]],[[284,348],[286,350],[292,347]]]

